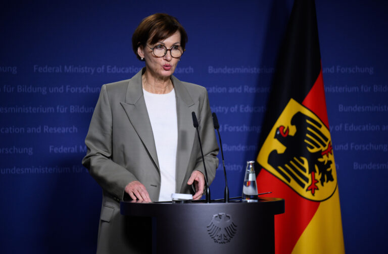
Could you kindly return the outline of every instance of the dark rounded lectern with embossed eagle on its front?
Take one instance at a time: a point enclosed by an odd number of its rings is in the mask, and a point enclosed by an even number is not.
[[[274,215],[284,199],[261,197],[206,204],[122,201],[125,216],[152,218],[152,253],[274,253]]]

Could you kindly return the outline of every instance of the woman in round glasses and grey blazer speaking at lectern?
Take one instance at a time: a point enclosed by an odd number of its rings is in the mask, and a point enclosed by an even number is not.
[[[201,198],[205,172],[191,112],[200,123],[209,183],[214,179],[218,145],[207,91],[172,75],[186,41],[174,17],[143,19],[132,46],[146,67],[129,80],[102,86],[82,161],[103,188],[97,252],[144,252],[141,240],[147,237],[134,233],[144,226],[120,215],[121,200],[171,200],[174,192]]]

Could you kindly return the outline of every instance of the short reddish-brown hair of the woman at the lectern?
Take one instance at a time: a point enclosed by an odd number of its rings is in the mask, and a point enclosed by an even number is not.
[[[155,13],[148,16],[140,22],[132,35],[133,52],[140,60],[139,55],[137,55],[137,47],[146,45],[150,36],[153,36],[151,38],[151,44],[155,44],[160,40],[170,37],[176,31],[180,33],[180,45],[184,49],[188,39],[187,33],[176,18],[165,13]]]

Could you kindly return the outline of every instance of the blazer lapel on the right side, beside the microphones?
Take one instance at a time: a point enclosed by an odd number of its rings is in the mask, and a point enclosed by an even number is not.
[[[182,82],[172,76],[176,96],[178,119],[178,144],[176,151],[176,190],[180,192],[187,173],[188,162],[196,134],[192,124],[191,112],[198,116],[198,101],[193,101]]]

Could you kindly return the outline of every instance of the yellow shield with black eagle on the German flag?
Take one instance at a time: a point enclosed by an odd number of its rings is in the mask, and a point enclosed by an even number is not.
[[[301,196],[323,201],[337,185],[329,129],[290,99],[264,141],[258,162]]]

